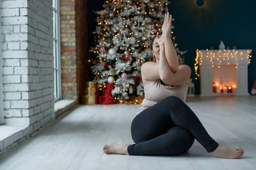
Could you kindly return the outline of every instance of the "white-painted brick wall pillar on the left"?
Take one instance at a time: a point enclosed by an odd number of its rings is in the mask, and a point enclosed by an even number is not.
[[[55,116],[52,0],[1,0],[1,8],[5,123],[35,131]]]

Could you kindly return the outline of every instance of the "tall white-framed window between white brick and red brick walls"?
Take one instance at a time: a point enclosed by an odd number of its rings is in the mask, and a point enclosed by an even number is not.
[[[60,41],[60,2],[53,0],[53,57],[54,57],[54,97],[61,99],[61,41]]]

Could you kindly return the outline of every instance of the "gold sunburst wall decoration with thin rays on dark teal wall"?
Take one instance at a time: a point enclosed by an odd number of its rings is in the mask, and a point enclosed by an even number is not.
[[[203,33],[222,22],[227,9],[227,0],[173,0],[169,12],[176,25]]]

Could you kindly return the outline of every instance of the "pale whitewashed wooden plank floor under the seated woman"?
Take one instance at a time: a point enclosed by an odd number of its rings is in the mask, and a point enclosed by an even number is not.
[[[131,121],[140,105],[81,106],[23,142],[0,170],[256,170],[256,97],[189,98],[219,144],[241,146],[241,159],[209,157],[195,141],[180,156],[105,155],[106,143],[132,144]]]

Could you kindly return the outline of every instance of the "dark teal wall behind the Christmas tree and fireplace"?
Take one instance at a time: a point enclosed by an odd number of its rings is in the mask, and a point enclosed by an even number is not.
[[[256,54],[256,0],[208,0],[212,1],[209,10],[200,17],[199,11],[193,11],[193,0],[169,0],[169,11],[175,18],[174,35],[180,50],[187,50],[185,64],[192,68],[195,78],[196,49],[218,49],[222,40],[226,46],[237,49],[252,49]],[[96,14],[101,10],[104,0],[88,1],[88,44],[94,45],[92,32],[96,27]],[[199,10],[199,9],[198,9]],[[201,19],[202,18],[202,19]],[[256,55],[252,54],[248,66],[248,90],[256,80]],[[91,56],[91,53],[89,53]],[[92,78],[92,77],[90,77]],[[195,94],[199,94],[199,79],[195,83]]]

